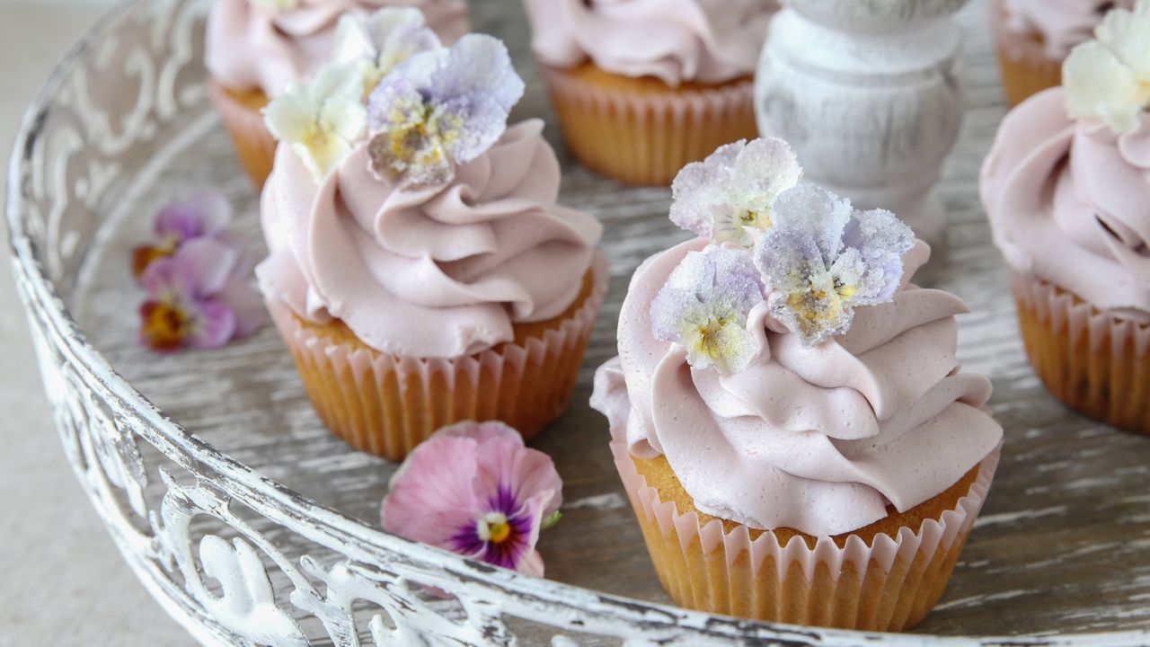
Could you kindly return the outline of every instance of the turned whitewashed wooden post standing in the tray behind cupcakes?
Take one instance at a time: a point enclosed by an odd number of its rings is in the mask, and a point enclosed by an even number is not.
[[[894,211],[930,244],[934,271],[946,220],[930,188],[963,115],[950,16],[965,3],[783,0],[756,84],[759,131],[790,142],[806,180]]]

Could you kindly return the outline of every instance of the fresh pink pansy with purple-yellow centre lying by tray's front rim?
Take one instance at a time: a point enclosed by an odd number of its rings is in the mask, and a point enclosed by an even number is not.
[[[551,458],[498,421],[444,427],[407,456],[383,500],[383,527],[473,560],[542,577],[539,531],[559,519]]]

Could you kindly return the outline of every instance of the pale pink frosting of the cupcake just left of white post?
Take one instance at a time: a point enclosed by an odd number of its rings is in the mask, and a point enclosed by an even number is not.
[[[774,0],[526,0],[531,48],[543,63],[591,59],[624,76],[672,86],[754,74]]]

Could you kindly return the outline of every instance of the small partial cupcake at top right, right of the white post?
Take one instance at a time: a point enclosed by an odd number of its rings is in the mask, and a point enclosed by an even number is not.
[[[1106,12],[1134,0],[994,0],[991,22],[1009,106],[1061,84],[1063,61]]]

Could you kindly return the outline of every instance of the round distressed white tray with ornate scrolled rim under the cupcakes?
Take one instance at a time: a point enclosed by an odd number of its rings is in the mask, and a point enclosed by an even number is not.
[[[805,3],[936,16],[961,5],[854,1]],[[518,7],[471,2],[476,24],[508,39],[528,78],[516,119],[546,117]],[[960,356],[994,378],[1006,441],[979,528],[921,627],[959,637],[949,639],[773,626],[658,603],[666,597],[621,496],[605,425],[585,398],[590,368],[615,352],[627,276],[684,234],[666,219],[667,191],[621,188],[562,151],[562,200],[605,221],[613,283],[573,409],[537,441],[554,456],[569,502],[540,543],[552,580],[376,530],[393,466],[322,429],[273,330],[221,352],[140,350],[125,325],[124,304],[137,295],[124,259],[156,200],[217,187],[246,214],[241,234],[260,239],[255,196],[205,102],[195,62],[202,8],[138,1],[98,28],[25,119],[7,204],[17,283],[64,451],[125,561],[201,642],[298,645],[300,634],[339,646],[1150,642],[1150,442],[1070,414],[1037,387],[977,205],[975,169],[1002,116],[981,2],[961,16],[971,41],[966,136],[937,190],[953,243],[943,287],[974,310],[961,321]],[[1083,635],[1099,631],[1110,633]]]

